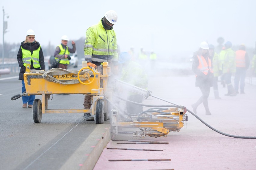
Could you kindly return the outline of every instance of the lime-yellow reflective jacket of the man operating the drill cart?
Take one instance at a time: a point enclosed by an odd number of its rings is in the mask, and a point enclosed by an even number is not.
[[[117,40],[114,30],[105,30],[100,20],[86,31],[84,59],[87,62],[118,62]]]

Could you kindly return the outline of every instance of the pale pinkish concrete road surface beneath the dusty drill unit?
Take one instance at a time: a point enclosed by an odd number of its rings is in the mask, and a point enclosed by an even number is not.
[[[233,81],[233,79],[232,79]],[[150,77],[148,89],[152,95],[184,105],[192,110],[201,92],[195,87],[194,76]],[[249,84],[253,82],[254,84]],[[224,133],[238,136],[256,136],[256,84],[255,78],[246,79],[245,94],[224,96],[227,89],[219,85],[220,100],[215,100],[213,90],[209,96],[211,116],[205,115],[203,104],[197,115],[212,127]],[[144,100],[145,104],[167,104],[155,98]],[[104,149],[94,170],[255,170],[256,139],[238,139],[223,136],[206,127],[198,119],[188,114],[188,122],[180,132],[171,132],[159,138],[136,138],[130,134],[119,134],[112,139],[133,139],[169,142],[169,144],[117,144],[110,141],[109,148],[159,149],[163,151],[132,151]],[[171,161],[117,161],[123,159],[171,159]]]

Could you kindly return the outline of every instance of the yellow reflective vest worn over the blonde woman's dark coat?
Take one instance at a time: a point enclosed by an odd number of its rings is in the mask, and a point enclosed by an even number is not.
[[[22,50],[22,61],[23,61],[23,66],[26,66],[27,64],[31,64],[31,60],[33,61],[33,67],[34,68],[39,68],[39,51],[40,51],[41,45],[39,46],[38,49],[33,51],[33,54],[31,55],[31,51],[26,50],[21,47]]]

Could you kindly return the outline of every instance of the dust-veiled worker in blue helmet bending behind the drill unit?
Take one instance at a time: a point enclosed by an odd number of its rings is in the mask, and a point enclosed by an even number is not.
[[[139,65],[138,63],[134,62],[131,60],[132,57],[128,52],[122,52],[119,56],[119,66],[121,74],[120,74],[120,80],[124,81],[128,84],[147,89],[148,87],[148,76],[145,73],[144,69],[142,69],[142,66]],[[127,94],[125,94],[127,92]],[[130,101],[134,101],[137,103],[142,103],[143,96],[133,93],[133,92],[128,92],[128,90],[122,93],[122,95],[127,95],[127,99]],[[127,113],[141,113],[142,106],[133,104],[131,102],[126,102],[126,110]]]

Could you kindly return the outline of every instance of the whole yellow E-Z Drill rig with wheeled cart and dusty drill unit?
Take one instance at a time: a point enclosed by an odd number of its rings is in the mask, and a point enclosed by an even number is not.
[[[42,115],[45,113],[92,113],[95,115],[96,124],[101,124],[110,118],[111,132],[133,133],[139,137],[160,137],[167,135],[171,131],[180,131],[187,121],[186,108],[177,104],[172,105],[147,105],[128,101],[115,95],[115,88],[130,91],[144,96],[147,99],[151,91],[127,84],[120,80],[114,81],[114,86],[108,86],[110,67],[107,62],[102,64],[102,74],[96,69],[87,67],[87,64],[78,70],[65,70],[53,68],[48,71],[30,69],[26,65],[24,82],[26,92],[15,95],[11,100],[16,100],[21,96],[42,95],[42,101],[35,99],[33,102],[33,119],[35,123],[40,123]],[[92,95],[91,109],[50,109],[48,100],[53,94],[87,94]],[[113,102],[113,99],[115,102]],[[163,100],[161,98],[158,98]],[[151,107],[141,113],[127,113],[124,107],[116,104],[116,101],[132,102],[134,104]],[[165,101],[165,100],[163,100]],[[168,102],[168,101],[166,101]],[[111,116],[108,116],[111,113]]]

